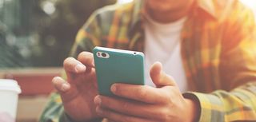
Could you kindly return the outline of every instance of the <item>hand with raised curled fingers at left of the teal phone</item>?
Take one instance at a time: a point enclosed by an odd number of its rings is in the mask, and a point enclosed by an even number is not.
[[[93,54],[82,52],[78,55],[78,60],[68,57],[63,65],[67,81],[54,77],[52,82],[62,97],[66,114],[77,121],[98,118],[94,104],[98,88]]]

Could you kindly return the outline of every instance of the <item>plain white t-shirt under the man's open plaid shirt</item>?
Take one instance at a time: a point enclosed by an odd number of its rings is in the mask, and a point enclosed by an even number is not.
[[[186,18],[176,22],[160,24],[146,16],[145,23],[145,77],[146,85],[154,86],[150,78],[150,66],[160,61],[163,70],[174,77],[181,92],[187,91],[186,75],[182,66],[180,41]]]

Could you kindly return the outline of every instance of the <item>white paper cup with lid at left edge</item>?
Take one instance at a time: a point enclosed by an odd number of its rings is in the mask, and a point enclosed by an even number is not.
[[[12,122],[16,119],[18,94],[21,89],[17,81],[0,79],[0,121]]]

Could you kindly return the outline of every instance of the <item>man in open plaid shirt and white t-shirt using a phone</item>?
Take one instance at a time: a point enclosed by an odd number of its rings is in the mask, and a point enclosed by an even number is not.
[[[148,85],[114,84],[120,97],[99,96],[95,45],[144,52]],[[236,0],[107,6],[78,32],[72,54],[41,121],[256,121],[256,26]]]

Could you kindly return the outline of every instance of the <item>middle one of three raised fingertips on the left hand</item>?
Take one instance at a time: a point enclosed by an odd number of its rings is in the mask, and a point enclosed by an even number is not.
[[[63,65],[67,73],[83,73],[86,71],[86,65],[83,65],[80,61],[74,59],[74,57],[66,58]]]

